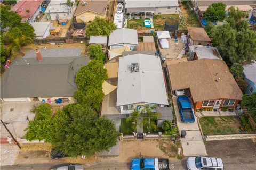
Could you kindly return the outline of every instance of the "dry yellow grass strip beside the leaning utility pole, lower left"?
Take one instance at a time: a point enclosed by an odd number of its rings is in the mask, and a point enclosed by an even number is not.
[[[26,143],[21,146],[20,152],[29,151],[47,151],[51,152],[52,145],[50,143]]]

